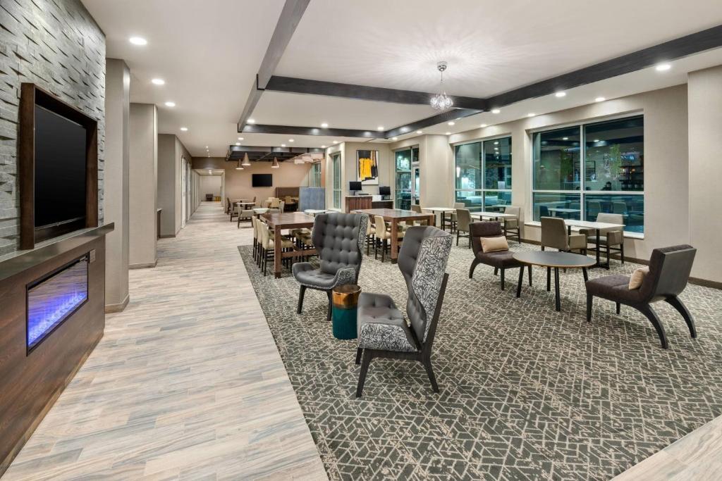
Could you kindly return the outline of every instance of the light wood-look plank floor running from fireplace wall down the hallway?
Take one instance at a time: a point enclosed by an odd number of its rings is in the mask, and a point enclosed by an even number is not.
[[[3,477],[326,479],[219,203],[204,203]]]

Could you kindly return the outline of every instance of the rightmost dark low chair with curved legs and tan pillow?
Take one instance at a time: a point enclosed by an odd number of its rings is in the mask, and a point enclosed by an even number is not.
[[[587,321],[591,322],[594,296],[617,303],[617,314],[620,304],[631,306],[649,319],[657,330],[662,348],[666,349],[667,337],[664,326],[651,306],[653,302],[666,301],[682,314],[687,327],[690,328],[692,338],[697,337],[695,319],[687,310],[687,306],[684,306],[677,297],[687,287],[696,252],[694,247],[686,244],[653,250],[649,260],[649,273],[638,289],[630,290],[628,287],[630,278],[627,275],[605,275],[586,281]]]

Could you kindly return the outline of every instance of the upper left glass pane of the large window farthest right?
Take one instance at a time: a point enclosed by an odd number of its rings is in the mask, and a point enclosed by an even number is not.
[[[580,189],[580,128],[534,133],[534,189]]]

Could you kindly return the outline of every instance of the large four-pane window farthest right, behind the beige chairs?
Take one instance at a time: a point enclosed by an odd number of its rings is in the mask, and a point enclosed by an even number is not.
[[[535,221],[620,213],[625,231],[644,232],[642,116],[536,132],[532,141]]]

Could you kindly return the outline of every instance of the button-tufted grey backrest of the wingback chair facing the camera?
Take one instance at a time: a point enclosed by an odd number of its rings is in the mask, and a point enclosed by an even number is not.
[[[336,274],[339,269],[353,267],[358,280],[367,228],[365,214],[318,214],[311,237],[321,260],[321,272]]]

